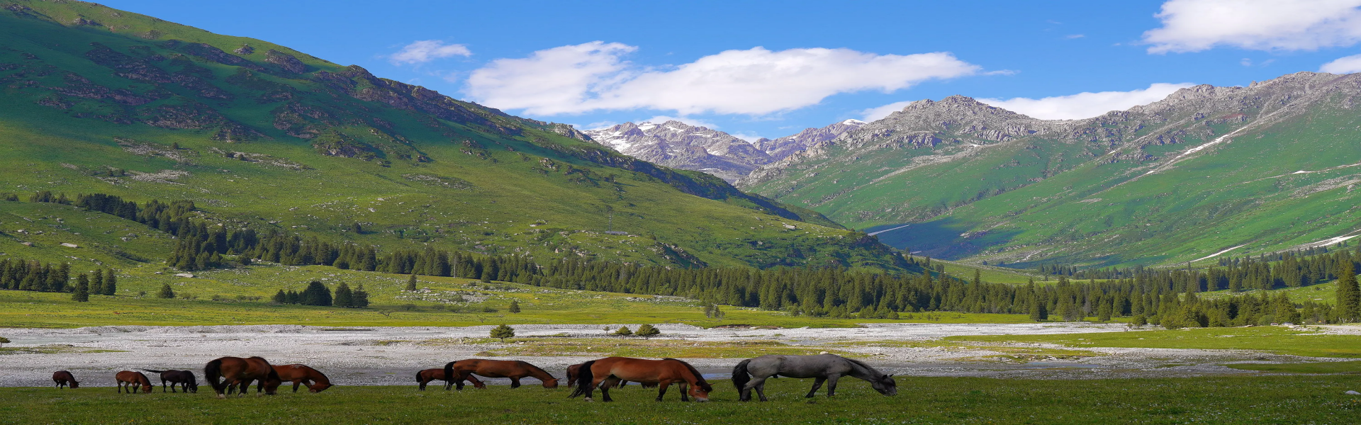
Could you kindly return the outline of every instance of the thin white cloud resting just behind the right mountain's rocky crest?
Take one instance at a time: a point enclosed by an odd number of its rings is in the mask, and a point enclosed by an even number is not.
[[[979,102],[1043,120],[1081,120],[1100,116],[1111,110],[1124,110],[1138,105],[1153,104],[1166,98],[1179,89],[1191,86],[1191,83],[1154,83],[1150,84],[1149,89],[1131,91],[1085,91],[1040,99],[979,99]]]

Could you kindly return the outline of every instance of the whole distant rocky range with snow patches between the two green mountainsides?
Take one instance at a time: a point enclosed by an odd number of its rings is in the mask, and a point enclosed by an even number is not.
[[[864,125],[864,121],[845,120],[822,128],[807,128],[796,135],[778,139],[759,139],[755,143],[708,127],[680,121],[623,123],[610,128],[589,129],[595,142],[642,161],[670,168],[705,172],[729,183],[751,173],[761,165],[783,159],[811,144],[830,140]]]

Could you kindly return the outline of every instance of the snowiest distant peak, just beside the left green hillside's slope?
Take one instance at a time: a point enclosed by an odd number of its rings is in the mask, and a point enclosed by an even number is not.
[[[591,139],[621,154],[670,168],[705,172],[736,181],[770,155],[751,143],[708,127],[680,121],[623,123],[585,131]]]

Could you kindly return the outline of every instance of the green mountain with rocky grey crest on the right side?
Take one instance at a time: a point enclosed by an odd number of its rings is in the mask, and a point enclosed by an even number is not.
[[[1173,264],[1361,234],[1361,75],[1195,86],[1086,120],[919,101],[739,187],[925,255]],[[875,234],[875,233],[871,233]]]

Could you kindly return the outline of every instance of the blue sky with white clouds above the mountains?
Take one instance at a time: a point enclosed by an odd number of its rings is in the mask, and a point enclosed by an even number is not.
[[[953,94],[1077,119],[1188,83],[1361,71],[1361,0],[103,3],[538,120],[743,138]]]

